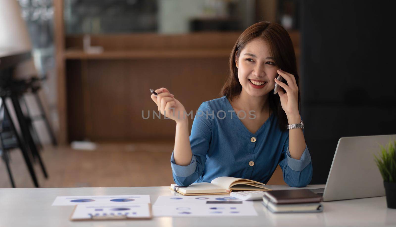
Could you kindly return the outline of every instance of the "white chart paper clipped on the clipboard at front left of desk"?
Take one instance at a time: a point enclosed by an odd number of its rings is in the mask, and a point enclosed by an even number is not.
[[[85,205],[78,204],[72,215],[73,220],[91,217],[127,216],[128,218],[150,218],[150,204],[132,205]]]

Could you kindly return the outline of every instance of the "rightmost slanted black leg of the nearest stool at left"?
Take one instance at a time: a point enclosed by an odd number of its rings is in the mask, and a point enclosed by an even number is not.
[[[37,151],[36,145],[34,144],[32,135],[30,134],[29,127],[25,121],[25,116],[22,113],[21,106],[19,105],[18,97],[16,95],[11,95],[11,101],[14,106],[15,114],[17,115],[19,126],[21,127],[21,132],[23,137],[26,138],[27,144],[29,145],[30,151],[37,157],[38,162],[40,163],[41,170],[44,174],[45,178],[48,178],[46,167],[40,157],[40,154]]]

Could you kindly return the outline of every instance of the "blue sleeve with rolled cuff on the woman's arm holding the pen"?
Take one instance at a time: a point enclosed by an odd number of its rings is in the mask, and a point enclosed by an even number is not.
[[[209,106],[202,102],[192,123],[190,145],[192,151],[191,162],[187,166],[180,166],[175,163],[173,152],[171,155],[171,167],[173,180],[177,185],[188,186],[194,183],[204,172],[206,153],[209,150],[211,140],[212,117]]]

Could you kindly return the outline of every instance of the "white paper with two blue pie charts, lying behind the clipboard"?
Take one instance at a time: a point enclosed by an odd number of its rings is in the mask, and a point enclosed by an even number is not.
[[[52,206],[75,206],[78,204],[130,205],[150,203],[150,195],[96,195],[96,196],[58,196]]]

